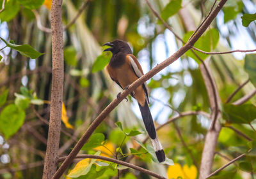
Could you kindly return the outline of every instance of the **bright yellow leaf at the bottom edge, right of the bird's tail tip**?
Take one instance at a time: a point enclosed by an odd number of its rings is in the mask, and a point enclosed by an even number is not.
[[[179,176],[182,177],[182,179],[195,179],[197,176],[197,169],[194,165],[189,168],[189,166],[185,164],[182,168],[180,164],[175,163],[174,166],[168,167],[167,176],[170,179],[176,179]]]

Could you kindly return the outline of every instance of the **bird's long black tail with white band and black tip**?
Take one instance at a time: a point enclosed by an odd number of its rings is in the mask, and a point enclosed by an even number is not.
[[[146,130],[148,132],[148,135],[151,138],[152,145],[156,152],[157,160],[159,162],[163,162],[163,161],[165,161],[164,150],[163,150],[161,143],[159,142],[159,140],[157,138],[154,121],[153,121],[152,115],[150,113],[148,103],[147,103],[147,101],[145,101],[144,106],[141,106],[140,103],[138,103],[138,104],[140,106],[141,116],[143,118],[143,122],[145,124]]]

